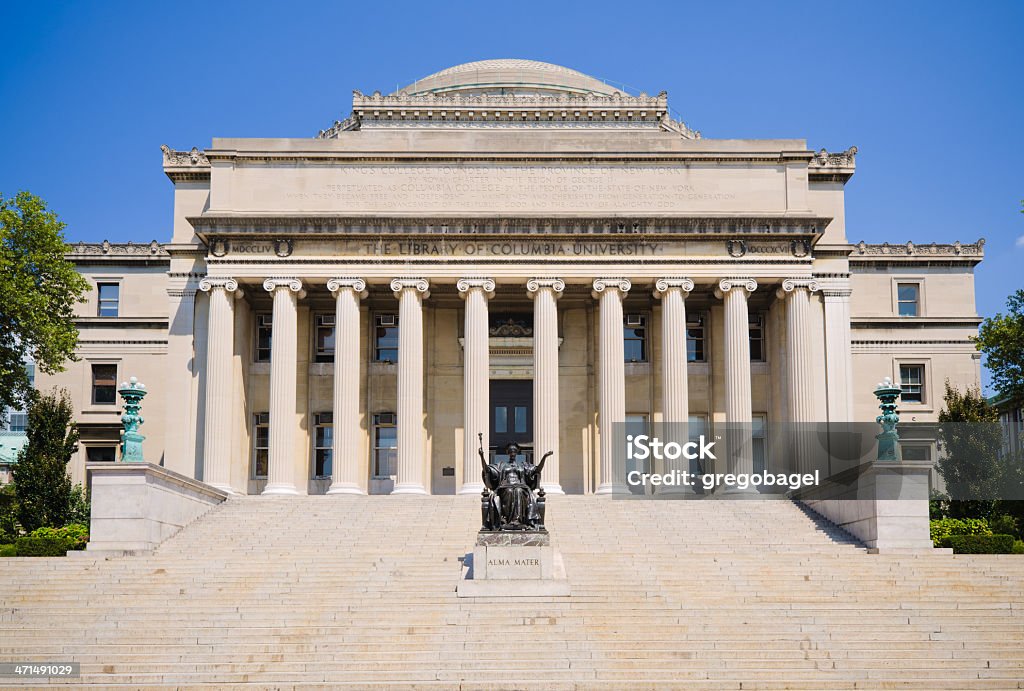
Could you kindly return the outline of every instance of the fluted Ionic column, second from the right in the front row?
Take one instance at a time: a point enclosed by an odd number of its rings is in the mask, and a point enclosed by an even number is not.
[[[728,472],[754,472],[751,402],[751,332],[748,296],[754,278],[722,278],[715,295],[725,301],[725,422]],[[756,491],[756,490],[751,490]]]

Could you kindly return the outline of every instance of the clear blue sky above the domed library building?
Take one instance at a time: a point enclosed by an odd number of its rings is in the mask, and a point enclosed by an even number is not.
[[[351,90],[476,59],[564,64],[708,137],[856,144],[851,242],[985,236],[978,309],[1024,285],[1024,2],[8,3],[0,191],[73,240],[168,240],[160,144],[311,136]]]

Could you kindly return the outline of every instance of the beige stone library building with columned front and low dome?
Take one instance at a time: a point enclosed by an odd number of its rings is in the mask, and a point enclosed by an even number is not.
[[[77,479],[117,440],[94,364],[152,392],[147,460],[242,493],[478,491],[503,397],[557,449],[549,491],[586,493],[630,417],[871,421],[902,372],[933,422],[979,381],[982,243],[850,244],[855,147],[707,139],[665,94],[495,60],[356,93],[316,137],[163,153],[169,242],[70,248],[120,301],[94,291],[81,359],[39,380],[72,390]]]

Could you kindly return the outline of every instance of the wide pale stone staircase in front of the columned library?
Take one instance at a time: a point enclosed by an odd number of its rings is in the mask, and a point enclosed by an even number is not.
[[[456,597],[472,496],[232,499],[148,556],[0,559],[0,661],[133,688],[1024,688],[1024,557],[868,555],[785,501],[548,513],[569,598]]]

